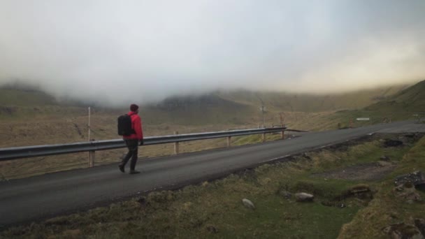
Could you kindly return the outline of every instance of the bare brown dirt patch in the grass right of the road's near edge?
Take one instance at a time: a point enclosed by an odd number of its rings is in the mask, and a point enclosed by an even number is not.
[[[359,164],[325,173],[316,173],[315,178],[332,178],[344,180],[381,180],[396,168],[396,164],[379,161],[377,163]]]

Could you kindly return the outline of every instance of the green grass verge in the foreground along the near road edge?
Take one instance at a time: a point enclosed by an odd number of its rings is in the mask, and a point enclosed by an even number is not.
[[[108,207],[17,226],[1,232],[0,238],[336,238],[343,224],[348,226],[340,235],[361,231],[363,226],[377,226],[374,220],[356,215],[359,210],[360,214],[369,210],[368,201],[347,192],[356,187],[370,187],[377,191],[370,205],[382,207],[377,203],[382,201],[376,200],[388,191],[385,187],[381,189],[380,181],[324,180],[315,177],[315,173],[379,161],[381,153],[399,162],[398,171],[391,177],[424,170],[423,161],[418,167],[411,166],[412,161],[416,163],[425,156],[425,138],[411,150],[409,145],[382,149],[377,139],[342,145],[334,152],[310,152],[296,157],[295,161],[266,164],[177,191],[154,191]],[[297,203],[293,197],[284,198],[282,190],[312,193],[315,201]],[[250,199],[256,209],[245,208],[241,203],[243,198]],[[389,213],[386,206],[382,210]],[[403,205],[401,210],[418,210],[415,216],[423,213],[415,205]],[[374,213],[378,217],[380,211]]]

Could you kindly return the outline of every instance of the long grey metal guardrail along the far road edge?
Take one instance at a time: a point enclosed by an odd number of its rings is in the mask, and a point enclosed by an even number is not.
[[[152,136],[143,139],[143,145],[158,145],[162,143],[178,143],[190,140],[203,140],[210,138],[224,138],[233,136],[246,136],[258,133],[283,132],[286,127],[274,127],[266,129],[243,129],[233,131],[219,131],[208,133],[187,133],[170,136]],[[229,145],[229,140],[228,140]],[[8,147],[0,149],[0,161],[20,159],[28,157],[40,157],[55,154],[71,154],[77,152],[95,152],[98,150],[114,150],[126,147],[124,140],[99,140],[82,143],[69,143],[58,145],[36,145],[28,147]],[[90,164],[92,166],[92,164]]]

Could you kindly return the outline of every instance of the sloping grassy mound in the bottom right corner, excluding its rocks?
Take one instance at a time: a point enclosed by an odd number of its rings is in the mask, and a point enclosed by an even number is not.
[[[425,137],[409,150],[396,170],[380,184],[380,191],[367,208],[361,210],[350,224],[346,224],[338,238],[387,238],[384,226],[398,222],[412,224],[412,219],[424,218],[424,200],[414,203],[397,198],[393,179],[398,175],[425,171]],[[417,191],[425,198],[424,191]]]

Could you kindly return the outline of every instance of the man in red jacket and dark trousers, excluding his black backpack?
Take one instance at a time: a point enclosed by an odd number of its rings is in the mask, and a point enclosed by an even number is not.
[[[124,157],[124,159],[122,159],[122,162],[118,167],[120,168],[120,171],[124,173],[124,166],[131,158],[130,174],[136,174],[141,173],[139,171],[136,171],[138,145],[143,145],[142,121],[141,117],[138,116],[138,106],[135,104],[131,104],[130,112],[127,115],[131,117],[131,129],[133,129],[133,133],[131,133],[131,135],[129,136],[122,136],[125,141],[125,144],[129,148],[129,152]]]

